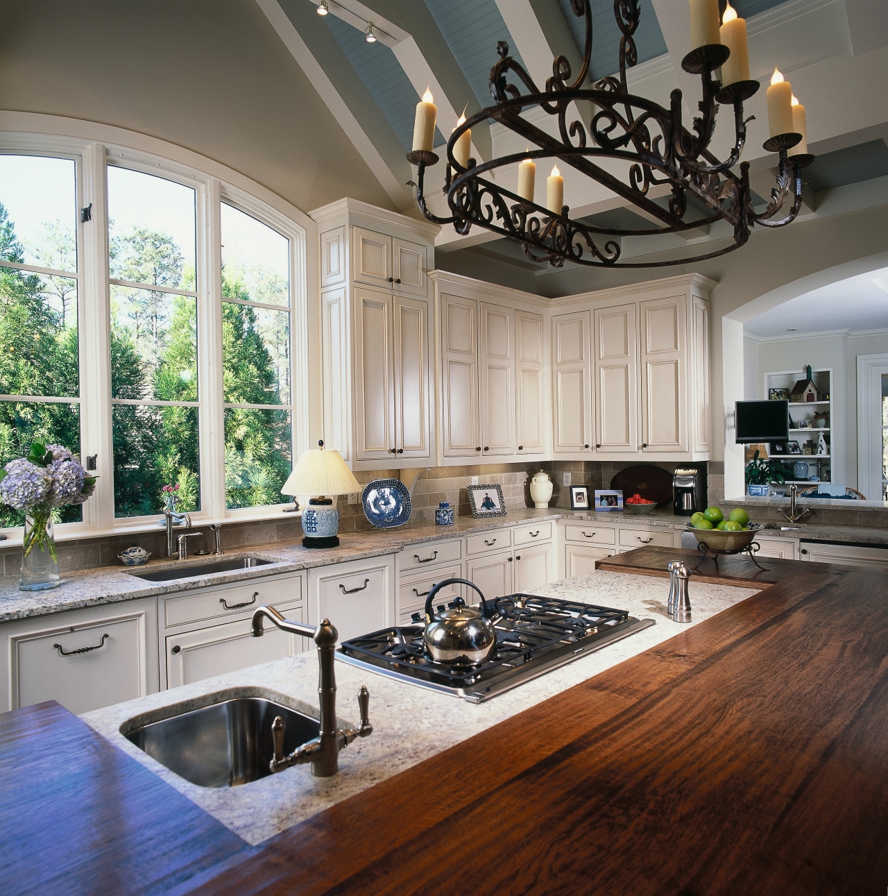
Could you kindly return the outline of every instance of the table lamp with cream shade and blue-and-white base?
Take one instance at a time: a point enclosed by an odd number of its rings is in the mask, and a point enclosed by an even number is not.
[[[316,495],[302,511],[303,547],[338,547],[340,512],[333,498],[359,492],[360,483],[345,465],[340,452],[319,447],[306,451],[280,489],[281,495]],[[329,495],[329,496],[328,496]]]

